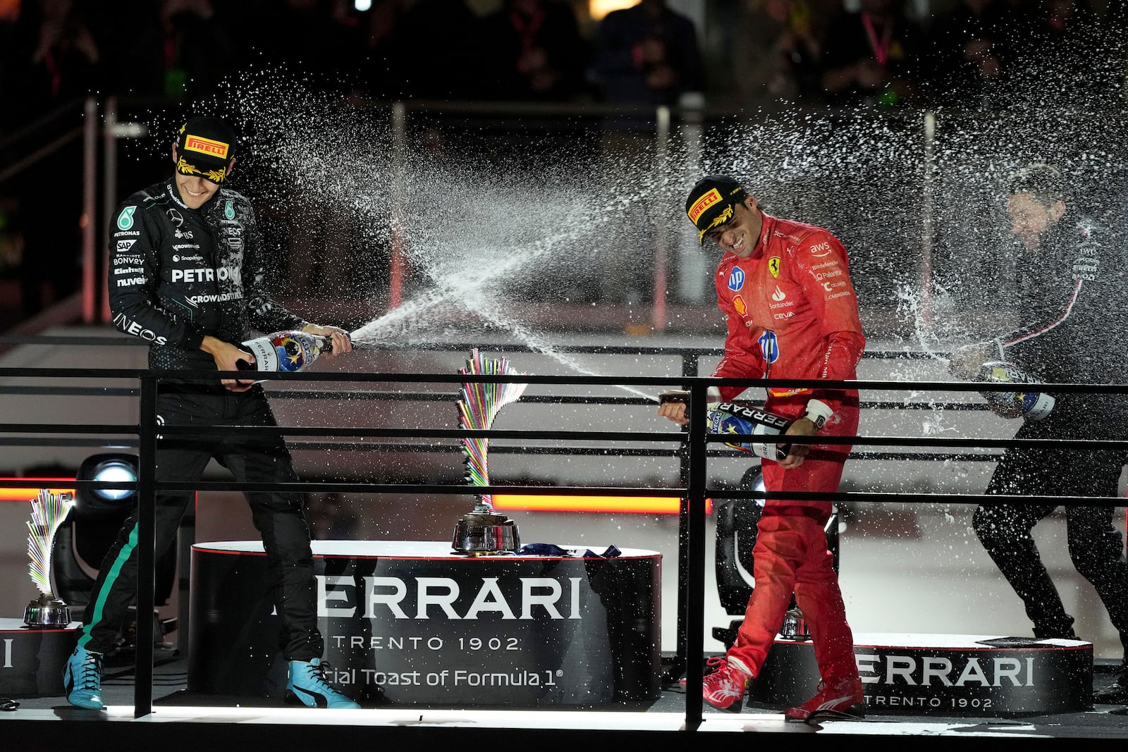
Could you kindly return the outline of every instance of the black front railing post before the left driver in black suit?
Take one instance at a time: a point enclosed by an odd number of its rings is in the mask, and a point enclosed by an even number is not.
[[[133,717],[152,714],[152,605],[157,546],[157,378],[141,377],[141,423],[138,427],[138,634]]]

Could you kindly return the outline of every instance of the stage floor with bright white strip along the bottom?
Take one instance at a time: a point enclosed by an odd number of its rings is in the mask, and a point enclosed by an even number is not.
[[[1118,664],[1099,662],[1094,691],[1110,684]],[[504,740],[506,746],[536,744],[545,750],[583,744],[607,749],[685,750],[689,743],[684,725],[685,695],[664,690],[646,706],[599,710],[509,710],[484,708],[394,707],[362,710],[316,710],[274,704],[273,700],[220,697],[185,689],[187,665],[175,654],[158,654],[155,671],[155,711],[133,718],[133,671],[130,666],[107,667],[103,681],[106,711],[72,708],[63,698],[28,698],[19,708],[0,713],[0,750],[148,749],[171,751],[237,749],[249,745],[305,744],[325,747],[338,744],[491,744]],[[55,722],[55,723],[51,723]],[[65,723],[58,723],[65,722]],[[878,715],[861,720],[828,720],[821,725],[785,723],[777,708],[744,707],[739,714],[705,706],[697,743],[713,749],[747,750],[747,734],[787,734],[779,742],[805,746],[816,735],[846,735],[853,741],[900,737],[915,746],[943,744],[988,749],[1054,744],[1066,740],[1086,745],[1122,747],[1128,741],[1128,708],[1096,705],[1092,710],[1038,717],[961,718],[946,716]],[[694,735],[696,736],[696,735]],[[845,741],[845,740],[844,740]],[[823,740],[825,743],[825,740]],[[149,746],[151,745],[151,746]],[[614,746],[611,749],[615,749]]]

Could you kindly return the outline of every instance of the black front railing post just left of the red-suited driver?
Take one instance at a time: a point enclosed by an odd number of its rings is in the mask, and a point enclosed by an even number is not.
[[[704,381],[689,388],[689,566],[686,582],[686,728],[702,724],[702,657],[705,653],[705,422]]]

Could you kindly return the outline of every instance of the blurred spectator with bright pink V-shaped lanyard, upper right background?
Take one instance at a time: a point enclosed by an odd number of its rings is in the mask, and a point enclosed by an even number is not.
[[[822,88],[832,105],[896,106],[916,99],[924,36],[900,0],[862,0],[827,25]]]

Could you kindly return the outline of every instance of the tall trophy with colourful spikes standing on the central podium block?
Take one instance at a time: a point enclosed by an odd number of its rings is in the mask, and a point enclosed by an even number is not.
[[[509,365],[502,357],[483,357],[475,348],[466,361],[462,374],[527,375]],[[520,399],[529,384],[525,383],[464,383],[461,399],[458,400],[459,424],[464,428],[488,428],[501,408]],[[482,436],[465,436],[462,452],[466,454],[466,480],[472,486],[490,485],[488,465],[490,440]],[[488,556],[515,551],[521,547],[517,525],[493,506],[491,494],[481,494],[474,510],[455,525],[452,547],[458,554]]]

